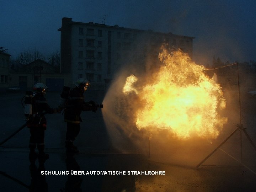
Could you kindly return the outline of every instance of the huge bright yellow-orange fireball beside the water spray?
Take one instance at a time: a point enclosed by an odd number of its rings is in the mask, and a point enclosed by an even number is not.
[[[217,138],[227,121],[217,112],[225,108],[220,85],[180,50],[169,54],[164,49],[159,59],[163,65],[140,92],[132,86],[135,76],[129,76],[124,86],[123,93],[136,90],[142,104],[136,109],[136,127],[168,129],[180,139]]]

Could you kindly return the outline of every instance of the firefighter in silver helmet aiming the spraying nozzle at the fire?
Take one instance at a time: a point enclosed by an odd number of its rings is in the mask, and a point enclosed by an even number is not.
[[[97,107],[94,101],[85,102],[84,92],[90,83],[85,78],[77,80],[76,86],[69,91],[67,107],[64,111],[64,121],[67,125],[65,147],[67,153],[79,153],[78,148],[73,144],[75,138],[80,132],[80,114],[82,111],[96,112]]]

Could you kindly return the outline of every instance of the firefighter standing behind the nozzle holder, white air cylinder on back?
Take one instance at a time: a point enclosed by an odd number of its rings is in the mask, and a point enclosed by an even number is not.
[[[50,108],[44,94],[48,87],[42,83],[33,86],[33,107],[32,116],[27,121],[27,127],[30,128],[30,161],[34,161],[37,157],[39,161],[45,161],[49,155],[44,153],[44,131],[46,130],[46,113],[57,113],[58,108]],[[38,154],[35,149],[38,149]]]

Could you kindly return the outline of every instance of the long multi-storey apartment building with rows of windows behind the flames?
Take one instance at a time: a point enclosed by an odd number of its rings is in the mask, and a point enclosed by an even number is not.
[[[192,58],[193,37],[151,30],[137,30],[108,26],[94,22],[74,22],[62,18],[61,73],[70,75],[74,84],[78,78],[87,78],[91,89],[104,90],[117,71],[124,65],[140,65],[148,70],[146,62],[157,58],[163,43],[180,48]]]

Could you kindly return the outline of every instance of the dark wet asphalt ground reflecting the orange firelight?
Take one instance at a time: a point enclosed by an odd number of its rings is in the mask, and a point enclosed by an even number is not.
[[[59,95],[60,93],[56,92],[47,93],[46,98],[51,107],[57,106]],[[0,141],[25,123],[21,105],[23,96],[24,93],[22,92],[0,94]],[[87,92],[85,98],[88,101],[94,100],[96,103],[101,103],[103,100],[103,96],[96,92]],[[252,141],[256,143],[255,99],[247,98],[244,101],[246,101],[242,105],[244,126],[247,127]],[[228,103],[228,105],[232,108],[233,103]],[[188,166],[182,162],[177,165],[166,160],[159,160],[156,158],[157,154],[160,153],[159,151],[157,153],[157,151],[152,150],[150,157],[144,153],[123,154],[111,145],[111,138],[105,127],[102,113],[98,110],[96,113],[82,113],[84,122],[81,123],[81,131],[75,143],[80,153],[67,156],[64,148],[66,125],[63,121],[63,115],[47,114],[46,118],[45,151],[50,155],[49,159],[40,165],[38,160],[35,164],[30,163],[28,159],[30,133],[28,128],[23,128],[0,146],[0,191],[22,192],[31,189],[53,192],[256,191],[256,163],[254,163],[256,151],[250,146],[250,143],[246,144],[246,151],[244,152],[244,155],[250,155],[247,158],[249,161],[246,163],[246,166],[250,165],[248,167],[232,160],[234,163],[230,166],[228,166],[229,164],[225,166],[200,166],[197,169],[194,165]],[[232,119],[231,122],[236,122],[236,120]],[[233,129],[229,129],[215,143],[215,146],[225,139]],[[154,141],[152,140],[152,142]],[[154,143],[152,143],[153,146]],[[213,149],[214,147],[206,150],[203,156],[207,156]],[[199,160],[202,159],[199,158]],[[206,161],[204,165],[209,163]],[[215,163],[215,165],[218,164]],[[46,171],[44,173],[47,175],[42,175],[41,171]],[[62,172],[62,174],[48,175],[49,171],[52,173]],[[69,171],[70,174],[63,174],[63,172],[67,173],[66,171]],[[84,171],[84,175],[72,175],[72,171]],[[122,175],[113,175],[111,171],[118,171]],[[142,171],[144,171],[144,175],[142,175]],[[154,175],[145,175],[145,173],[149,173],[148,171],[151,171],[150,173],[152,171],[165,171],[165,175],[155,175],[155,172],[153,172]],[[86,173],[88,174],[86,175]],[[104,175],[106,173],[107,175]]]

